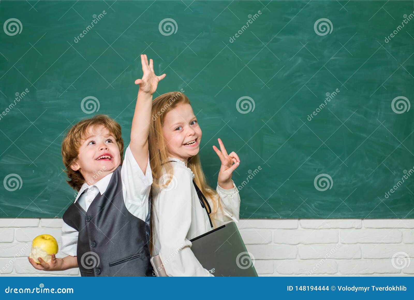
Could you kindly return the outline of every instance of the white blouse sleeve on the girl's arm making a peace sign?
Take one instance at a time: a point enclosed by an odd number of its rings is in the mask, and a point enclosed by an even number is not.
[[[218,208],[217,212],[211,215],[215,220],[216,227],[230,221],[238,223],[240,219],[240,196],[233,180],[232,183],[233,188],[228,190],[217,184]],[[212,203],[210,203],[210,206],[212,206]]]

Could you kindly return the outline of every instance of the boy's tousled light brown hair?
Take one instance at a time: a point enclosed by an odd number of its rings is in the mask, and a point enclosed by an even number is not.
[[[72,170],[70,165],[77,161],[79,148],[82,145],[82,139],[85,138],[88,128],[96,125],[103,125],[115,137],[119,153],[121,155],[121,163],[123,161],[124,140],[121,137],[121,126],[118,122],[103,114],[79,121],[72,128],[70,128],[62,142],[62,161],[63,165],[65,165],[64,171],[70,179],[67,180],[67,183],[77,191],[80,190],[82,184],[85,182],[85,179],[79,170]]]

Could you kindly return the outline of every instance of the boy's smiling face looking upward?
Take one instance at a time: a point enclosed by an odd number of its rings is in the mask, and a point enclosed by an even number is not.
[[[103,125],[96,125],[87,129],[77,161],[71,168],[79,170],[85,182],[92,185],[115,171],[120,163],[121,156],[115,137]]]

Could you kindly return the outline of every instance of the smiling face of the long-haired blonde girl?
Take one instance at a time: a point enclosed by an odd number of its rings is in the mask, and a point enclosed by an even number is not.
[[[178,104],[168,111],[162,132],[171,157],[187,162],[200,150],[202,132],[190,104]]]

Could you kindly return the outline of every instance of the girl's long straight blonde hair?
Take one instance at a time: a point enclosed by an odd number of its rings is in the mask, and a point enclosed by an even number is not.
[[[178,104],[190,104],[190,100],[188,100],[187,96],[183,94],[182,92],[169,92],[162,94],[154,99],[152,102],[152,118],[151,118],[151,126],[149,128],[149,137],[148,137],[148,148],[149,148],[149,165],[151,166],[151,172],[152,172],[152,191],[154,191],[154,187],[159,188],[160,184],[161,186],[166,186],[170,183],[171,179],[173,178],[173,162],[168,162],[168,150],[167,150],[167,144],[164,139],[162,126],[164,124],[164,119],[168,111],[171,111],[175,107],[178,106]],[[162,165],[165,163],[164,165]],[[202,193],[206,198],[210,198],[212,200],[213,207],[212,213],[210,214],[211,218],[214,213],[217,212],[219,201],[217,201],[217,192],[212,189],[206,181],[204,172],[201,167],[200,163],[200,156],[194,155],[192,157],[188,158],[187,166],[193,171],[195,177],[194,181],[195,184],[200,188]],[[164,174],[168,174],[168,179],[165,180],[159,180],[163,174],[161,174],[162,169],[165,168]],[[164,177],[163,177],[164,179]],[[160,182],[159,182],[160,181]],[[153,194],[153,193],[152,193]],[[153,197],[151,197],[153,198]],[[190,201],[190,199],[188,199]],[[152,224],[154,222],[154,205],[152,205],[152,212],[151,212],[151,220]],[[212,218],[213,225],[214,219]],[[151,225],[151,243],[150,243],[150,250],[152,252],[152,249],[154,247],[153,244],[153,229],[154,226]]]

